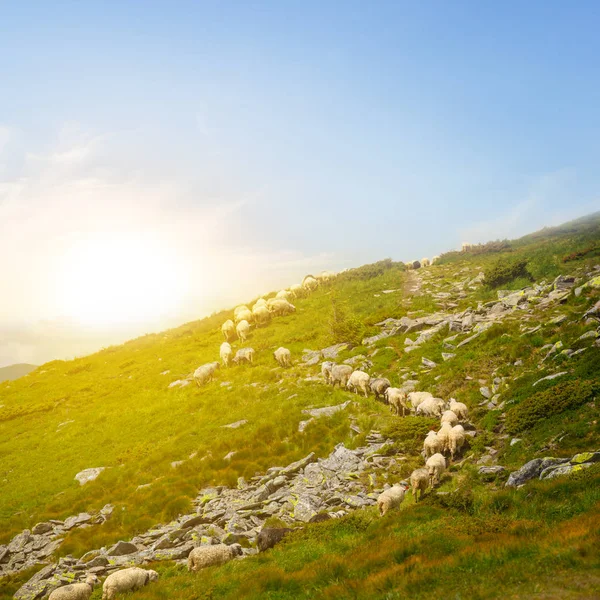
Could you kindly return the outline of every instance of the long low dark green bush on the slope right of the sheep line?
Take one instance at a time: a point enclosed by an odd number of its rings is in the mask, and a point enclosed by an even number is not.
[[[567,381],[533,394],[506,414],[506,429],[519,433],[531,429],[552,415],[577,408],[592,400],[597,385],[587,381]]]

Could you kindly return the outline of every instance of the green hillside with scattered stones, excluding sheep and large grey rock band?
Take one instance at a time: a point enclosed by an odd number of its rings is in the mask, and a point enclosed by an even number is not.
[[[504,487],[531,459],[600,450],[599,323],[584,318],[600,300],[596,265],[598,213],[520,240],[450,252],[426,269],[386,260],[339,274],[293,300],[294,314],[252,329],[245,345],[255,350],[253,365],[222,367],[200,388],[169,385],[219,360],[220,326],[232,311],[0,383],[0,544],[36,523],[110,503],[110,518],[67,532],[54,554],[78,558],[193,513],[202,488],[236,488],[239,478],[310,452],[325,457],[340,443],[358,448],[372,431],[392,440],[385,453],[394,461],[362,483],[376,492],[386,480],[407,478],[423,466],[424,432],[437,421],[397,417],[372,395],[333,389],[320,364],[302,361],[304,350],[354,342],[336,362],[357,356],[392,386],[414,380],[417,390],[469,407],[476,435],[440,486],[417,506],[407,496],[400,511],[383,518],[367,507],[301,523],[275,549],[201,576],[176,562],[154,563],[160,579],[138,595],[597,597],[600,468]],[[555,286],[561,274],[575,281]],[[500,306],[500,297],[518,290],[523,298],[513,294],[514,306]],[[436,314],[446,315],[437,330],[361,343],[385,332],[378,325],[385,319]],[[484,317],[491,320],[481,326]],[[426,339],[411,349],[424,331]],[[273,359],[279,346],[291,350],[289,369]],[[299,431],[303,409],[346,400],[353,402],[345,410]],[[247,424],[223,428],[239,420]],[[505,470],[482,475],[485,465]],[[105,470],[80,486],[75,475],[92,467]],[[0,578],[0,596],[10,597],[37,570]],[[101,595],[97,589],[92,598]]]

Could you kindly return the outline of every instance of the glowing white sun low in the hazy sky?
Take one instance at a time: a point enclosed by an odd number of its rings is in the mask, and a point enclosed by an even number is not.
[[[172,315],[185,278],[167,244],[139,234],[95,235],[65,253],[57,277],[61,313],[81,324],[158,323]]]

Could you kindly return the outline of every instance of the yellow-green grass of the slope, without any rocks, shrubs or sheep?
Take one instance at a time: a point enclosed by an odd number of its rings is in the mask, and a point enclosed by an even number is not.
[[[418,311],[431,312],[443,306],[443,301],[434,301],[426,292],[434,287],[436,291],[450,290],[457,279],[472,277],[499,258],[529,257],[529,269],[538,281],[594,264],[598,259],[593,252],[569,263],[561,258],[597,243],[598,221],[528,236],[500,254],[448,255],[442,265],[427,272],[425,293],[413,298],[400,293],[374,297],[384,289],[407,285],[411,275],[398,269],[368,280],[340,278],[331,288],[298,300],[295,315],[276,319],[253,332],[249,345],[257,351],[255,366],[221,370],[217,381],[201,390],[195,386],[169,390],[167,386],[199,364],[218,358],[222,340],[219,325],[228,316],[225,312],[76,361],[48,363],[21,380],[0,384],[0,543],[45,518],[61,518],[113,503],[117,510],[105,525],[74,532],[66,539],[60,553],[78,555],[187,511],[190,499],[203,485],[234,485],[239,476],[249,477],[270,466],[286,464],[309,451],[323,455],[340,441],[361,443],[361,436],[352,437],[344,415],[320,420],[299,434],[302,408],[337,403],[347,398],[347,393],[305,382],[304,377],[315,373],[317,367],[282,371],[275,368],[271,356],[279,345],[298,356],[304,348],[321,348],[332,342],[327,326],[332,291],[348,302],[365,324],[366,334],[376,333],[373,324],[382,318],[407,312],[424,314]],[[469,290],[469,298],[459,299],[459,304],[472,306],[477,299],[493,297],[491,290]],[[493,444],[500,452],[501,464],[516,466],[534,456],[547,455],[549,451],[543,448],[548,439],[563,435],[565,430],[568,435],[554,444],[552,453],[566,456],[575,450],[595,448],[600,445],[595,405],[586,404],[548,419],[519,434],[523,443],[510,447],[495,432],[501,427],[500,413],[477,409],[476,404],[481,399],[478,380],[489,383],[493,376],[509,378],[503,399],[520,401],[530,394],[531,382],[546,374],[537,368],[543,356],[540,348],[558,339],[565,343],[575,340],[585,331],[577,316],[596,299],[597,294],[586,292],[552,314],[541,315],[544,322],[558,313],[570,318],[560,326],[545,326],[533,336],[521,337],[520,321],[507,320],[448,363],[440,356],[447,333],[410,354],[404,353],[405,336],[385,339],[377,344],[381,349],[373,358],[372,371],[384,373],[397,383],[399,369],[420,371],[422,356],[439,361],[431,374],[420,373],[421,387],[444,397],[453,394],[474,409],[478,427],[488,431],[473,444],[475,457],[485,451],[485,444]],[[540,315],[530,319],[535,325]],[[366,352],[358,347],[347,354]],[[518,372],[510,365],[516,359],[524,362]],[[572,377],[597,378],[598,350],[588,350],[568,368]],[[160,374],[167,369],[168,375]],[[548,365],[548,373],[556,370],[556,363]],[[232,386],[221,387],[224,380]],[[253,382],[259,385],[249,385]],[[293,394],[297,395],[290,398]],[[353,412],[364,431],[383,427],[398,437],[399,447],[410,450],[414,446],[410,442],[412,419],[398,424],[373,400],[361,401]],[[242,418],[249,421],[245,427],[220,428]],[[224,461],[222,457],[231,450],[237,454],[230,462]],[[187,459],[193,453],[196,456]],[[187,460],[182,466],[171,467],[171,461],[183,459]],[[409,458],[398,475],[405,476],[418,460]],[[92,466],[110,469],[95,482],[79,487],[73,480],[75,473]],[[299,589],[308,590],[307,597],[394,598],[396,593],[397,597],[400,593],[414,597],[417,588],[437,597],[442,591],[464,590],[467,577],[478,582],[469,597],[489,597],[493,594],[486,580],[494,574],[503,581],[495,588],[498,593],[505,590],[510,596],[517,585],[517,595],[526,595],[535,585],[552,588],[552,580],[544,583],[548,570],[542,568],[550,559],[558,576],[566,577],[574,588],[576,574],[594,566],[586,550],[598,539],[592,518],[598,498],[589,492],[591,480],[572,484],[575,488],[570,495],[561,492],[568,488],[564,482],[536,484],[540,501],[535,510],[528,508],[532,503],[525,501],[524,491],[501,492],[508,508],[498,511],[493,508],[494,493],[472,471],[467,467],[444,485],[454,489],[463,480],[475,490],[477,497],[467,509],[413,508],[408,502],[401,517],[381,521],[370,511],[362,511],[318,529],[310,527],[272,553],[211,570],[202,577],[201,585],[200,578],[194,580],[178,568],[163,566],[163,580],[152,594],[196,598],[202,597],[203,590],[212,589],[215,597],[229,597],[242,589],[251,597],[246,582],[252,574],[252,585],[256,585],[252,589],[263,590],[272,598],[295,597],[301,595]],[[597,478],[594,481],[597,489]],[[137,489],[147,483],[152,485]],[[490,515],[494,521],[497,513],[502,527],[488,530],[485,523]],[[554,527],[557,523],[559,527]],[[561,527],[575,532],[564,549],[558,544]],[[442,533],[446,531],[453,535]],[[433,554],[428,550],[432,546]],[[440,573],[460,567],[461,576],[432,578],[434,567]],[[5,583],[5,589],[14,589],[21,579]]]

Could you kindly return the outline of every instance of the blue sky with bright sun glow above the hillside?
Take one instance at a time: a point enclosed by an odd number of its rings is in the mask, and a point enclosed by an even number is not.
[[[600,4],[0,0],[0,366],[600,209]]]

